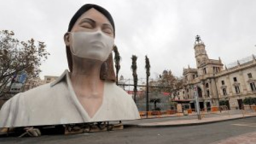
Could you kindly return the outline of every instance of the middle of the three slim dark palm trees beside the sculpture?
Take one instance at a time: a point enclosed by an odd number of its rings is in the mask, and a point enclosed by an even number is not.
[[[133,93],[134,93],[134,102],[136,102],[136,94],[137,94],[137,84],[138,84],[138,76],[137,76],[137,59],[138,57],[136,55],[132,55],[132,76],[133,76]]]

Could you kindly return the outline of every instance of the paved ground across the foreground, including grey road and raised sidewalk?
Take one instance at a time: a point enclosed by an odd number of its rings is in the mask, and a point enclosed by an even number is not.
[[[36,138],[0,137],[0,143],[252,144],[255,143],[256,138],[255,113],[246,115],[234,113],[222,116],[209,114],[202,120],[184,116],[179,119],[177,117],[151,118],[123,121],[123,123],[124,130],[42,135]]]

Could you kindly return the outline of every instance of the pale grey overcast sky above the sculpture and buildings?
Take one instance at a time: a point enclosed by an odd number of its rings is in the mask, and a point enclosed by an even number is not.
[[[68,69],[63,34],[74,13],[86,3],[105,7],[115,21],[115,44],[122,57],[119,74],[132,78],[131,57],[138,56],[138,77],[145,78],[145,55],[151,78],[164,69],[182,76],[183,67],[196,67],[195,36],[200,35],[210,59],[228,64],[256,53],[256,1],[57,1],[1,0],[0,29],[15,37],[43,41],[50,52],[44,75]]]

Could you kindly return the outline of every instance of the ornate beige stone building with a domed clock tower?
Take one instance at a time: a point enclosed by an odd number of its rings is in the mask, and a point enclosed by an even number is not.
[[[220,58],[209,59],[199,36],[196,36],[194,50],[197,68],[188,66],[183,69],[185,85],[173,93],[175,100],[188,101],[190,107],[195,108],[194,87],[197,88],[201,109],[219,106],[219,103],[226,103],[231,110],[242,109],[244,98],[256,97],[255,55],[223,68]]]

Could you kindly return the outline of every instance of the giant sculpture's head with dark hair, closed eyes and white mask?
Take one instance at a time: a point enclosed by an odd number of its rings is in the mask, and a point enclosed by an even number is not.
[[[83,32],[93,32],[94,35],[83,35]],[[95,34],[97,32],[99,32],[99,34]],[[68,26],[68,33],[66,33],[64,36],[68,67],[71,73],[73,71],[72,57],[74,57],[74,54],[78,56],[85,55],[85,57],[87,58],[97,59],[97,57],[99,57],[99,59],[101,60],[105,59],[104,57],[102,58],[102,55],[99,55],[99,51],[97,51],[97,49],[91,49],[92,51],[74,49],[75,47],[79,47],[82,44],[85,44],[86,42],[91,43],[88,41],[90,41],[90,39],[95,39],[95,37],[100,37],[99,35],[105,37],[105,39],[101,38],[101,40],[103,41],[103,45],[111,45],[111,43],[109,44],[109,39],[113,38],[114,40],[115,38],[114,20],[111,17],[110,13],[103,7],[95,4],[85,4],[71,18]],[[76,39],[77,41],[74,42],[73,39]],[[86,42],[83,41],[83,39],[85,39]],[[104,43],[104,41],[106,43]],[[113,45],[111,47],[113,47]],[[101,66],[100,78],[102,80],[115,81],[113,56],[111,50],[110,52],[108,50],[103,52],[103,54],[107,53],[109,53],[109,55]]]

